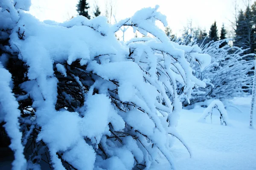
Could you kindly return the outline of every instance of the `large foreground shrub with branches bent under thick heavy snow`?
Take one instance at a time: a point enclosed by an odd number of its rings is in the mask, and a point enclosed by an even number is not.
[[[144,169],[158,154],[173,167],[170,147],[182,108],[176,82],[188,98],[194,86],[204,87],[185,55],[203,68],[209,55],[171,42],[155,25],[167,25],[157,7],[109,25],[105,17],[81,16],[42,23],[14,5],[0,3],[13,24],[1,47],[0,113],[15,169],[25,166],[23,147],[27,169]],[[122,26],[153,37],[120,42],[115,32]]]

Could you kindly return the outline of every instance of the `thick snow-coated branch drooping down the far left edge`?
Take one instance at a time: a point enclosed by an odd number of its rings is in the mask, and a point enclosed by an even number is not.
[[[21,144],[22,133],[19,129],[18,117],[20,116],[19,105],[15,99],[10,83],[12,75],[3,68],[0,62],[0,122],[6,122],[4,125],[6,133],[11,138],[10,148],[14,152],[15,161],[12,162],[14,170],[26,168],[26,159],[23,155],[24,146]]]

